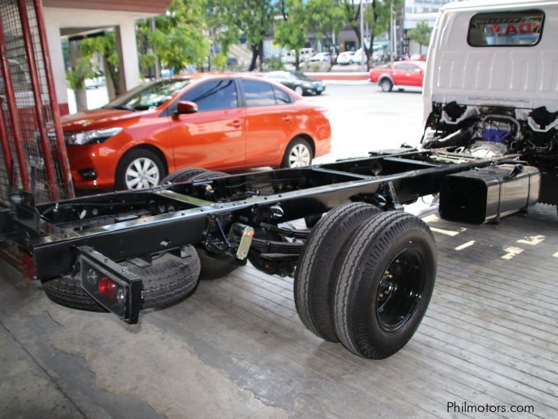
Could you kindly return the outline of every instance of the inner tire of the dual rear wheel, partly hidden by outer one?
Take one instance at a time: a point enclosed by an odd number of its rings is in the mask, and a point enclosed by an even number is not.
[[[294,274],[294,302],[302,323],[326,341],[338,342],[333,320],[333,293],[338,255],[364,221],[380,210],[351,203],[326,212],[306,240]]]

